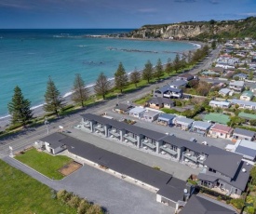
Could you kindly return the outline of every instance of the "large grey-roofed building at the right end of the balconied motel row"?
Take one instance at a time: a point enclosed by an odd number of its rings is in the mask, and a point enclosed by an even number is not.
[[[198,184],[219,189],[223,194],[242,194],[252,168],[242,160],[243,156],[211,147],[205,168],[197,176]]]

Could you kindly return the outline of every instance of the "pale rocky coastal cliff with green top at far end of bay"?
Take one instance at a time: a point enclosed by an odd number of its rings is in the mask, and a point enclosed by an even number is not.
[[[256,37],[256,18],[222,21],[186,21],[172,24],[144,25],[127,34],[131,38],[202,40],[203,38]]]

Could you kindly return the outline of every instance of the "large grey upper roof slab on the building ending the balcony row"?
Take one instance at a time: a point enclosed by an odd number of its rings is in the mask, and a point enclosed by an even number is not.
[[[234,178],[237,167],[241,163],[242,155],[230,153],[214,146],[211,146],[209,152],[204,165],[221,172],[229,178]]]

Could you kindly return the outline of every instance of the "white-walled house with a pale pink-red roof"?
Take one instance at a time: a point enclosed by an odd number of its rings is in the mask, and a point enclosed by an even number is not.
[[[222,124],[214,124],[209,128],[209,137],[211,138],[221,138],[229,139],[232,137],[234,129],[232,127],[227,127]]]

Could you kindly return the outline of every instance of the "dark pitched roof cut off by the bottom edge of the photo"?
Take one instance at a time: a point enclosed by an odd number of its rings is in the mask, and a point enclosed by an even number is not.
[[[236,214],[236,211],[222,207],[217,203],[219,202],[213,203],[194,194],[182,208],[180,214]]]

